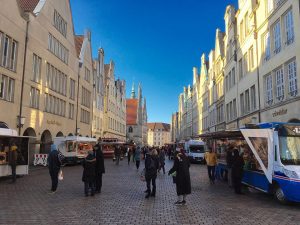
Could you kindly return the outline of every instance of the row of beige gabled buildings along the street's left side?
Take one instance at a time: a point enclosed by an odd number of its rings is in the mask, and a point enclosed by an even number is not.
[[[31,153],[56,136],[125,141],[125,88],[91,32],[75,35],[69,0],[1,1],[0,121],[36,137]]]

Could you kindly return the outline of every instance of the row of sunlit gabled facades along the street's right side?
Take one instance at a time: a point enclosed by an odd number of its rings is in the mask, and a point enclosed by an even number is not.
[[[172,141],[248,123],[300,122],[300,13],[296,0],[239,0],[225,31],[193,69],[172,115]]]

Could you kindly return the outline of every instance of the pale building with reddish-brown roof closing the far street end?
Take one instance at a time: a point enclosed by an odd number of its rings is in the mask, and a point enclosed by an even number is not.
[[[162,147],[171,143],[170,124],[148,123],[148,145]]]

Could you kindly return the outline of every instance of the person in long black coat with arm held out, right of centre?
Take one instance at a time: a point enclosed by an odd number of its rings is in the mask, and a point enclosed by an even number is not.
[[[178,149],[179,150],[179,149]],[[169,175],[176,173],[173,176],[176,183],[176,192],[178,200],[175,205],[186,204],[186,196],[191,194],[191,178],[190,178],[190,162],[183,149],[180,149],[174,158],[174,165],[169,170]]]

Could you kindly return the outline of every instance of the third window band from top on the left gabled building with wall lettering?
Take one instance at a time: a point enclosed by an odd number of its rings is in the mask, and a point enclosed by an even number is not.
[[[47,63],[46,84],[52,91],[61,95],[67,95],[67,75]]]

